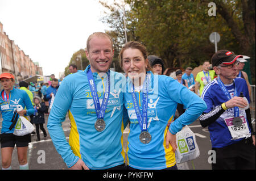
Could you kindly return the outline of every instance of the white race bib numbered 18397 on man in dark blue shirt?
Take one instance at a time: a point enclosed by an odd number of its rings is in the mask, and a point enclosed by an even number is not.
[[[245,117],[240,116],[240,118],[242,119],[242,124],[238,127],[236,127],[233,124],[234,117],[225,119],[225,123],[228,126],[229,132],[232,136],[231,140],[237,140],[237,139],[244,138],[244,137],[248,138],[251,136],[251,133],[250,133],[249,127],[247,126]]]

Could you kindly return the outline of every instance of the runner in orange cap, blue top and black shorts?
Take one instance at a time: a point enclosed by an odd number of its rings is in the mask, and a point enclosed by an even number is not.
[[[0,80],[3,87],[3,90],[0,92],[0,112],[3,118],[0,134],[2,169],[11,169],[11,157],[15,145],[20,169],[28,169],[27,148],[28,142],[31,142],[31,136],[30,134],[24,136],[14,135],[15,127],[11,128],[11,120],[13,120],[14,111],[17,106],[20,105],[23,108],[27,108],[27,110],[17,111],[19,116],[31,115],[34,112],[34,108],[26,91],[14,89],[15,81],[13,74],[2,73]]]

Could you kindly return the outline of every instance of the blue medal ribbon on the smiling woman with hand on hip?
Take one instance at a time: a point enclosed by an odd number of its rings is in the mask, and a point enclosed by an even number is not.
[[[133,97],[133,104],[134,104],[134,109],[135,109],[135,113],[137,115],[137,119],[139,121],[139,125],[141,125],[141,131],[147,131],[147,74],[146,74],[146,78],[145,78],[145,83],[146,83],[146,87],[145,87],[145,92],[143,92],[143,98],[142,98],[142,114],[141,111],[139,110],[139,105],[138,105],[138,101],[134,92],[134,85],[131,87],[131,95]]]

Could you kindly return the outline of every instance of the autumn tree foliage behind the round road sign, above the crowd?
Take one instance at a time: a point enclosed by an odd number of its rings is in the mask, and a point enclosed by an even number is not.
[[[246,54],[251,57],[251,65],[255,65],[255,0],[126,0],[125,5],[118,2],[107,5],[100,0],[106,9],[102,22],[111,28],[115,53],[125,43],[125,15],[127,40],[143,43],[148,54],[164,60],[166,68],[195,68],[210,60],[215,53],[214,44],[209,41],[212,32],[221,36],[218,49]],[[216,16],[208,15],[209,2],[216,3]],[[254,66],[251,69],[251,77],[255,77]]]

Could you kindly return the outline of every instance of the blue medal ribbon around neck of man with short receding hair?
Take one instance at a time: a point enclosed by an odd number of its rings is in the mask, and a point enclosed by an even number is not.
[[[110,71],[107,71],[106,74],[108,75],[108,81],[107,81],[107,85],[105,88],[104,99],[102,100],[102,104],[100,105],[100,100],[98,99],[98,93],[97,93],[96,85],[95,85],[95,82],[93,79],[92,70],[89,69],[87,71],[87,78],[88,78],[89,85],[90,85],[90,91],[92,92],[93,103],[94,103],[94,107],[95,107],[98,119],[104,118],[106,106],[107,106],[108,100],[109,100]]]

